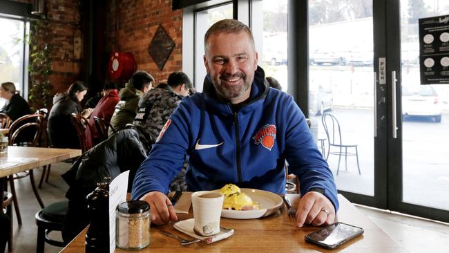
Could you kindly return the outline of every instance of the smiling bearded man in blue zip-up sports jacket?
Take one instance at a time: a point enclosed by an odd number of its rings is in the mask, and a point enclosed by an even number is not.
[[[186,154],[190,191],[234,183],[285,194],[287,160],[303,195],[297,225],[333,223],[332,172],[293,98],[269,88],[251,30],[233,19],[218,21],[204,36],[204,52],[204,90],[184,98],[166,122],[137,171],[132,198],[150,204],[153,223],[176,221],[166,193]]]

